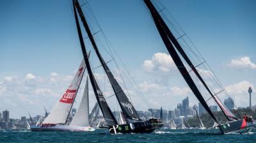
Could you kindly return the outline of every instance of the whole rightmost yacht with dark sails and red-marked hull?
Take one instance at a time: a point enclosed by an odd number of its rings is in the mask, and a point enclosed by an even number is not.
[[[152,16],[154,24],[156,25],[157,31],[159,32],[161,39],[163,40],[164,45],[168,50],[170,56],[172,57],[175,65],[179,69],[179,72],[181,73],[184,80],[186,80],[188,86],[190,87],[191,91],[193,91],[196,98],[199,100],[200,103],[202,103],[202,106],[204,107],[204,109],[209,113],[212,119],[214,119],[214,121],[218,123],[221,133],[223,134],[234,133],[234,132],[242,133],[250,130],[250,128],[255,126],[256,122],[253,119],[248,119],[248,117],[246,118],[246,116],[244,116],[242,119],[238,119],[236,116],[234,116],[234,114],[232,114],[232,112],[230,112],[230,110],[228,110],[227,107],[225,107],[225,105],[221,103],[221,101],[216,96],[216,94],[212,93],[212,91],[209,89],[204,79],[202,79],[201,75],[196,69],[196,66],[193,65],[193,63],[187,56],[186,52],[184,52],[184,50],[182,49],[182,46],[177,41],[178,38],[175,38],[172,31],[170,31],[169,27],[164,22],[161,15],[159,14],[159,11],[157,11],[154,4],[152,4],[152,1],[150,0],[143,0],[143,1],[147,6],[148,10],[150,11],[150,15]],[[180,55],[177,52],[179,52]],[[221,109],[221,112],[223,112],[223,114],[227,118],[227,123],[220,123],[220,120],[217,119],[216,116],[214,116],[211,109],[209,108],[209,105],[207,104],[207,100],[204,99],[198,87],[196,87],[195,82],[189,75],[189,72],[186,66],[184,65],[184,63],[182,62],[182,60],[180,59],[180,56],[183,57],[183,59],[191,68],[191,71],[195,73],[196,77],[204,85],[205,89],[211,95],[211,98],[214,100],[214,102],[218,104],[218,106]]]

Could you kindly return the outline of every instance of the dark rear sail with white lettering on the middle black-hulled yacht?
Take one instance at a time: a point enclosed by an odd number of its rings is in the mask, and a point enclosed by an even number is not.
[[[76,4],[77,11],[79,13],[79,16],[81,18],[81,21],[83,22],[84,28],[86,29],[86,32],[88,34],[88,38],[92,42],[93,49],[95,50],[97,56],[99,57],[99,61],[102,64],[104,71],[108,75],[109,82],[113,88],[113,91],[115,92],[116,98],[118,100],[118,103],[120,104],[120,107],[122,109],[122,112],[123,112],[125,118],[133,119],[133,120],[140,120],[140,116],[134,109],[132,103],[128,100],[122,87],[120,87],[120,85],[116,81],[115,77],[113,76],[113,73],[111,73],[111,71],[108,68],[108,65],[105,63],[104,59],[100,55],[99,49],[97,47],[97,44],[95,43],[95,40],[93,39],[92,32],[90,31],[90,27],[88,26],[88,23],[86,22],[83,11],[81,10],[81,7],[79,5],[79,2],[76,1],[75,4]]]

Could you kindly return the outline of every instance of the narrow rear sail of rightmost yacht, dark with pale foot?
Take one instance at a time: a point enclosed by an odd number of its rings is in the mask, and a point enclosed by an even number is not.
[[[198,73],[198,71],[196,70],[195,66],[193,65],[193,63],[190,61],[189,57],[187,56],[187,54],[184,52],[184,50],[182,49],[182,47],[180,46],[179,42],[176,40],[175,36],[172,34],[172,31],[170,31],[169,27],[166,25],[166,23],[164,22],[164,20],[162,19],[162,17],[159,15],[159,13],[156,13],[159,22],[161,22],[163,29],[165,31],[165,33],[167,34],[168,38],[172,41],[173,45],[176,47],[176,49],[179,51],[180,55],[185,59],[186,63],[188,63],[189,67],[191,68],[191,70],[195,73],[196,77],[198,77],[198,79],[202,82],[202,84],[204,85],[205,89],[207,89],[207,91],[209,92],[209,94],[211,94],[212,98],[215,100],[215,102],[218,104],[218,106],[220,107],[220,109],[222,110],[222,112],[225,114],[225,116],[227,117],[227,119],[229,121],[233,121],[233,119],[236,119],[236,117],[232,114],[232,112],[230,112],[227,107],[225,107],[225,105],[223,105],[223,103],[220,102],[220,100],[218,99],[218,97],[214,94],[212,94],[211,90],[209,89],[209,87],[207,86],[207,84],[204,82],[204,80],[202,79],[201,75]]]

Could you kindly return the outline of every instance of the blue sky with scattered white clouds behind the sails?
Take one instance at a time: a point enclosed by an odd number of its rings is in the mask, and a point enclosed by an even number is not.
[[[163,14],[172,13],[237,107],[248,106],[248,87],[252,86],[255,91],[256,85],[256,2],[160,2],[166,8]],[[127,84],[137,110],[147,110],[148,105],[173,110],[186,96],[191,106],[198,103],[164,47],[143,1],[88,0],[88,4],[138,89],[147,98],[148,104],[141,102],[132,85]],[[168,13],[166,16],[170,17]],[[0,1],[0,19],[0,110],[10,110],[12,118],[28,116],[28,112],[43,114],[44,106],[50,111],[83,59],[71,1]],[[96,27],[93,32],[97,30]],[[92,49],[90,44],[88,48]],[[104,49],[100,51],[106,61],[111,60]],[[93,54],[92,59],[93,67],[99,66]],[[109,66],[124,87],[113,62]],[[212,73],[199,70],[208,82],[207,75]],[[95,73],[106,96],[111,95],[113,91],[105,86],[106,76],[102,70]],[[90,98],[92,108],[95,103],[92,90]],[[116,103],[111,104],[112,100],[109,104],[113,109]],[[252,100],[255,105],[255,93]]]

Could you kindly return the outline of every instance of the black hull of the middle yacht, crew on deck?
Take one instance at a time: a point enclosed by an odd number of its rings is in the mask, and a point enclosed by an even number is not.
[[[156,129],[163,126],[163,123],[152,123],[150,121],[129,123],[129,124],[117,124],[109,128],[109,132],[113,134],[117,133],[152,133]]]

